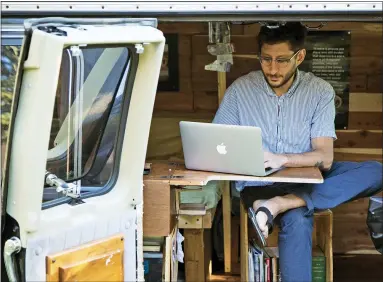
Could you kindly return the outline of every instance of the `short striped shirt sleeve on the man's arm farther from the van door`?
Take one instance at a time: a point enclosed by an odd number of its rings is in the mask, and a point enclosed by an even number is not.
[[[332,137],[337,139],[335,133],[335,91],[328,85],[322,92],[317,108],[311,122],[311,138]]]

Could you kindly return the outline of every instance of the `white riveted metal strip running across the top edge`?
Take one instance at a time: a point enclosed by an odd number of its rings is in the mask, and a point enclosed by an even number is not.
[[[353,1],[123,1],[3,2],[4,12],[266,13],[381,12],[382,2]]]

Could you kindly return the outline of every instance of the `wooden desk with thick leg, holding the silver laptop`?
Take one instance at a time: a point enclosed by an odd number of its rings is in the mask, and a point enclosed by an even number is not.
[[[182,226],[179,228],[185,229],[186,282],[188,280],[205,281],[208,276],[206,272],[209,272],[210,257],[205,253],[205,250],[209,249],[205,244],[209,241],[207,240],[208,231],[211,228],[214,210],[206,211],[206,216],[180,215],[177,195],[183,186],[204,186],[213,180],[323,183],[321,172],[314,167],[286,168],[266,177],[254,177],[188,170],[182,163],[152,163],[150,173],[144,176],[144,236],[168,236],[177,224],[178,218],[178,224]],[[230,200],[230,194],[223,194],[224,197],[228,197],[226,201]],[[187,221],[186,224],[185,221]],[[193,222],[195,224],[192,224]],[[225,245],[228,244],[224,248],[225,258],[230,257],[226,253],[228,249],[231,249],[231,240],[227,240],[230,235],[231,228],[227,229],[224,225]]]

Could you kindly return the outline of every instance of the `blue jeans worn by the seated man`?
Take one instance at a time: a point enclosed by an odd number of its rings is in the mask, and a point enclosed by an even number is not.
[[[276,222],[280,270],[283,282],[310,282],[312,267],[312,231],[314,210],[331,209],[358,198],[370,197],[382,190],[382,164],[367,162],[334,162],[323,173],[324,183],[275,183],[271,186],[245,187],[241,199],[246,206],[256,199],[294,194],[307,206],[280,214]]]

